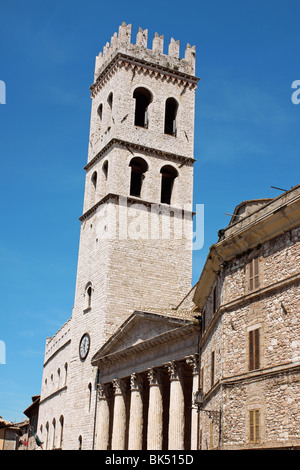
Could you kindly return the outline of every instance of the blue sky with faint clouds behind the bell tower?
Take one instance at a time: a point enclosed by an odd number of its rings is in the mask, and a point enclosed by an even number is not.
[[[299,183],[299,1],[1,0],[0,415],[40,393],[46,336],[71,316],[95,56],[118,26],[196,45],[194,203],[205,245],[242,200]]]

